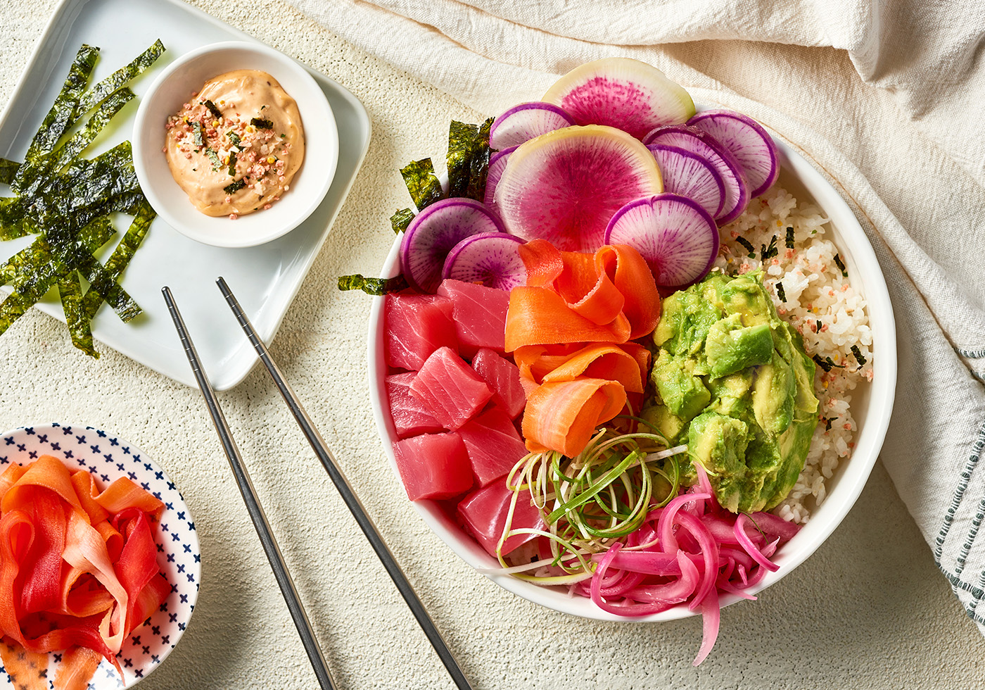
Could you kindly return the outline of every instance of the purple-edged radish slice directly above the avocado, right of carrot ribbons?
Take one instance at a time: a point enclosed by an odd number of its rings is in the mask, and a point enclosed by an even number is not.
[[[606,229],[606,243],[636,249],[662,288],[683,288],[703,278],[718,255],[719,242],[711,215],[680,194],[630,201]]]

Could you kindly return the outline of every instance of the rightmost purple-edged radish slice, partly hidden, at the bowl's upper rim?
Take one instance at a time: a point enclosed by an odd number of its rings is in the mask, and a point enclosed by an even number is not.
[[[780,173],[776,144],[752,117],[732,110],[705,110],[688,121],[700,127],[728,149],[746,174],[750,197],[769,189]]]

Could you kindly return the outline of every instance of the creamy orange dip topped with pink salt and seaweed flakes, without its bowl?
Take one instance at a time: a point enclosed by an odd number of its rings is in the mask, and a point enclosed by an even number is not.
[[[266,72],[210,79],[164,127],[171,175],[207,216],[270,208],[304,160],[297,104]]]

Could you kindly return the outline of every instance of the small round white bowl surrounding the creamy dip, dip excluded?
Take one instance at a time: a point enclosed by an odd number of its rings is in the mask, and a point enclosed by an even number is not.
[[[206,81],[236,69],[267,72],[296,101],[304,127],[304,163],[280,201],[232,221],[206,216],[192,205],[171,176],[162,148],[167,117]],[[295,60],[266,45],[213,43],[177,58],[151,85],[134,122],[133,160],[151,206],[179,233],[214,246],[253,246],[294,230],[318,207],[335,176],[339,133],[324,92]]]

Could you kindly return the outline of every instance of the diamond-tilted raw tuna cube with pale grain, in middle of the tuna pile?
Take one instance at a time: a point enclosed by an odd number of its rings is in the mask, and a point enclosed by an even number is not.
[[[493,388],[450,348],[442,347],[411,381],[411,394],[445,429],[455,431],[486,406]]]

